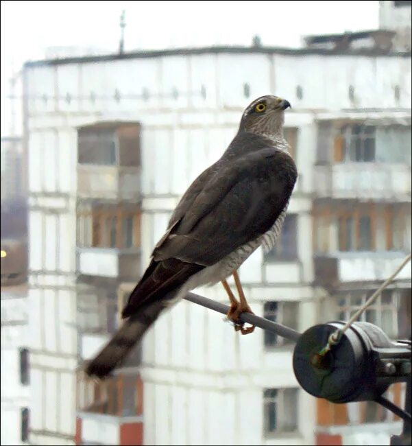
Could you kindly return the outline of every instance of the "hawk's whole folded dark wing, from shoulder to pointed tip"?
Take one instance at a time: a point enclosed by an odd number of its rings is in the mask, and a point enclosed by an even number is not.
[[[193,274],[267,232],[296,178],[289,154],[274,148],[206,169],[180,201],[123,318],[165,300]]]

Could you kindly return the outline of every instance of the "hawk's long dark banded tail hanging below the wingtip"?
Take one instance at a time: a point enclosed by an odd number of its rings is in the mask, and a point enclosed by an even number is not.
[[[125,320],[106,347],[86,365],[86,374],[104,378],[121,365],[164,308],[165,301],[156,301]]]

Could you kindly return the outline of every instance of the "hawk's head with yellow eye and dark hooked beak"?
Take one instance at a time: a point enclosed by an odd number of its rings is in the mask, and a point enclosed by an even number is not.
[[[278,96],[258,97],[243,112],[239,130],[266,137],[282,136],[284,110],[290,106]]]

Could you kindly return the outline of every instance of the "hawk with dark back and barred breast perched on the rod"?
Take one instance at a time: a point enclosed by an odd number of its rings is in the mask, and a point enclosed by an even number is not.
[[[271,249],[282,227],[298,175],[283,137],[288,107],[272,95],[247,106],[226,152],[193,181],[173,211],[123,309],[123,326],[86,365],[89,376],[109,375],[162,310],[200,285],[221,281],[231,303],[228,318],[243,334],[253,331],[239,320],[241,312],[252,310],[237,270],[258,246]],[[226,281],[231,274],[240,302]]]

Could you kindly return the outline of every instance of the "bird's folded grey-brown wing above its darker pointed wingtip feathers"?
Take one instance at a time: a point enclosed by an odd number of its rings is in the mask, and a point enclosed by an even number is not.
[[[217,169],[194,197],[182,202],[167,237],[154,250],[154,260],[213,265],[271,228],[296,178],[289,154],[273,148]]]

